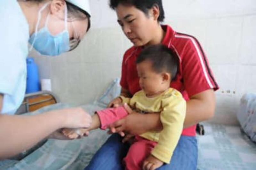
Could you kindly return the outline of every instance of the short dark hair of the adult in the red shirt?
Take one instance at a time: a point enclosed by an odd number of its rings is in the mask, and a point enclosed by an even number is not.
[[[137,9],[144,12],[146,15],[148,15],[149,9],[157,5],[160,11],[157,21],[158,22],[164,21],[164,8],[163,8],[162,0],[110,0],[109,1],[109,6],[113,10],[115,10],[119,4],[135,6]]]

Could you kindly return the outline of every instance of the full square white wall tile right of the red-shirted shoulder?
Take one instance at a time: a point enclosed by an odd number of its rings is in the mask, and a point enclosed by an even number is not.
[[[236,64],[241,46],[242,17],[209,19],[205,51],[212,64]]]

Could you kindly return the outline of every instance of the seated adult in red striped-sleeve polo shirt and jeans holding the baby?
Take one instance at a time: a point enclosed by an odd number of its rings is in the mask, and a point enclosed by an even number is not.
[[[164,20],[162,0],[110,0],[110,7],[116,11],[117,22],[134,45],[124,54],[121,95],[132,96],[141,90],[135,61],[142,48],[162,43],[179,56],[179,71],[170,87],[179,90],[187,100],[186,119],[171,163],[159,169],[196,169],[196,123],[214,115],[214,91],[219,88],[201,45],[193,36],[177,33],[170,26],[160,24]],[[119,105],[120,102],[116,98],[110,102],[109,107]],[[141,115],[134,113],[129,106],[125,108],[132,114],[115,122],[110,128],[112,133],[119,132],[122,136],[125,132],[123,141],[119,135],[112,135],[86,169],[123,169],[121,160],[126,155],[129,144],[122,142],[134,134],[161,130],[159,114]],[[154,169],[153,164],[149,164],[146,169]]]

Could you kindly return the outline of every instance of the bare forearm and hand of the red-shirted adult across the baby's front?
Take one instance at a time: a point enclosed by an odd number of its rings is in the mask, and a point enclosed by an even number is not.
[[[109,126],[110,133],[119,133],[124,136],[124,132],[132,135],[142,134],[149,130],[162,130],[162,123],[158,113],[139,114],[131,109],[126,103],[124,108],[129,115]],[[125,138],[126,140],[126,138]]]

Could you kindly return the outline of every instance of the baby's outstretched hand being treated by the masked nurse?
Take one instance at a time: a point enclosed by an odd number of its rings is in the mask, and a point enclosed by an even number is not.
[[[64,129],[62,129],[62,133],[63,133],[63,135],[65,135],[69,139],[77,139],[77,138],[89,135],[88,129],[69,129],[69,128],[64,128]]]

